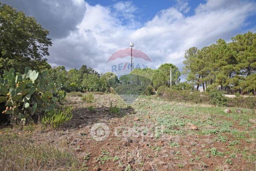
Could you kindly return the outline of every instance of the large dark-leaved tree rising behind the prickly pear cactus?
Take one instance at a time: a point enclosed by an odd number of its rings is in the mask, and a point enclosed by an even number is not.
[[[0,32],[0,73],[10,68],[21,73],[26,66],[45,69],[47,59],[43,57],[49,55],[52,42],[47,38],[49,31],[33,17],[0,2]]]

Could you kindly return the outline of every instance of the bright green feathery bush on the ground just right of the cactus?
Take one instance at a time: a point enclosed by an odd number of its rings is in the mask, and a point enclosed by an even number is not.
[[[45,113],[45,116],[41,119],[43,125],[49,125],[52,128],[59,128],[63,123],[72,119],[73,107],[66,107],[58,110],[50,110]]]

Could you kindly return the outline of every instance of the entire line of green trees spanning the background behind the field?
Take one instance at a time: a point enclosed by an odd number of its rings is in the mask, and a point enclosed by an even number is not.
[[[48,78],[68,92],[109,91],[106,78],[111,73],[100,74],[86,65],[69,71],[64,66],[52,68],[45,58],[52,46],[48,34],[33,17],[0,2],[0,74],[11,68],[23,73],[29,66],[37,71],[47,70]],[[218,87],[228,93],[256,94],[256,33],[247,32],[231,40],[226,43],[219,39],[213,45],[186,50],[182,73],[174,64],[165,63],[158,69],[134,69],[130,74],[150,79],[152,90],[172,85],[173,89],[193,91],[202,86],[203,90]],[[181,74],[187,76],[186,82],[180,81]],[[120,79],[123,84],[129,83],[125,77]]]

